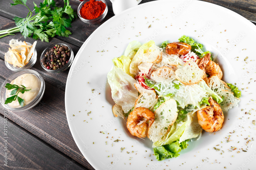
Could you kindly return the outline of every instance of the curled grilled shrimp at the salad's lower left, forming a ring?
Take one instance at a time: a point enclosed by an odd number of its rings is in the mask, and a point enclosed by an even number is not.
[[[142,123],[140,120],[145,117],[150,122],[147,124],[145,121]],[[133,136],[145,138],[147,136],[148,127],[155,121],[155,115],[147,108],[135,108],[128,116],[126,127]]]

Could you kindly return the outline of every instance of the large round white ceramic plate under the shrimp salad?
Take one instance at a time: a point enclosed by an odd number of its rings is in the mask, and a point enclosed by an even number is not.
[[[84,157],[95,169],[254,169],[255,30],[242,16],[202,1],[149,2],[106,21],[80,48],[66,85],[68,124]],[[243,89],[241,102],[225,114],[221,130],[204,132],[177,158],[156,161],[152,142],[133,137],[126,122],[113,116],[106,75],[111,59],[121,56],[129,42],[161,45],[184,34],[217,55],[223,80]]]

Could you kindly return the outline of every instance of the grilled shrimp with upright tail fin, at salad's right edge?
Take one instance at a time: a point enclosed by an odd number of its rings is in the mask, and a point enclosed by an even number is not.
[[[207,53],[198,64],[198,67],[202,70],[205,69],[205,72],[209,74],[210,77],[216,75],[221,80],[223,73],[220,69],[220,66],[219,64],[216,64],[215,62],[211,61],[210,58],[211,54]]]

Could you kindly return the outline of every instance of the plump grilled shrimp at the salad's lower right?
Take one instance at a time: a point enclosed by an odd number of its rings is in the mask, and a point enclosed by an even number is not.
[[[206,132],[216,132],[222,126],[224,115],[220,105],[212,97],[209,97],[208,102],[210,106],[197,111],[198,123]]]

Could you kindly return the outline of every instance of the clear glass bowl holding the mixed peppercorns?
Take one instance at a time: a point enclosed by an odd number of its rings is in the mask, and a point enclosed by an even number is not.
[[[56,70],[50,70],[50,69],[45,68],[45,66],[43,65],[41,60],[43,59],[44,55],[46,54],[46,50],[54,47],[54,45],[56,45],[56,44],[57,45],[67,46],[70,49],[71,55],[70,55],[70,58],[68,60],[68,63],[65,66],[63,66],[62,68],[56,69]],[[74,60],[74,53],[73,53],[73,50],[70,48],[69,45],[63,44],[63,43],[56,43],[56,44],[52,44],[52,45],[46,47],[46,49],[42,52],[41,57],[40,57],[40,64],[41,64],[42,68],[44,68],[46,71],[48,71],[50,73],[59,73],[59,72],[67,70],[71,66],[71,64],[72,64],[72,62]]]

